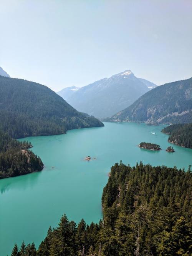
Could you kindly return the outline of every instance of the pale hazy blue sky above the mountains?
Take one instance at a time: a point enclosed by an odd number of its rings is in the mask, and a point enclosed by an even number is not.
[[[0,66],[58,91],[131,69],[192,76],[192,0],[0,0]]]

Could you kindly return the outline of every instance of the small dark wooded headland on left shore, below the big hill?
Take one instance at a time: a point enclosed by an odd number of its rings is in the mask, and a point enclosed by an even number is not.
[[[17,141],[0,131],[0,179],[43,169],[41,159],[28,148],[31,143]]]

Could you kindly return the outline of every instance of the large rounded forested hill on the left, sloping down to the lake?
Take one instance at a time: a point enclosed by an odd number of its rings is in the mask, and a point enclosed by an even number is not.
[[[96,126],[103,123],[78,112],[48,87],[0,76],[0,129],[13,138]]]

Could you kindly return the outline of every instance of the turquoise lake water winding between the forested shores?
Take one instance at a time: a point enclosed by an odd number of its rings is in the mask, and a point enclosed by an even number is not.
[[[102,218],[101,195],[110,167],[120,160],[135,165],[188,168],[192,150],[171,145],[160,126],[144,123],[104,123],[105,127],[68,131],[66,135],[30,137],[33,152],[45,165],[43,171],[0,180],[0,255],[34,241],[38,247],[51,225],[63,213],[77,223]],[[154,133],[154,134],[153,134]],[[142,142],[159,144],[161,151],[139,148]],[[175,153],[167,153],[167,146]],[[84,161],[84,157],[96,157]]]

